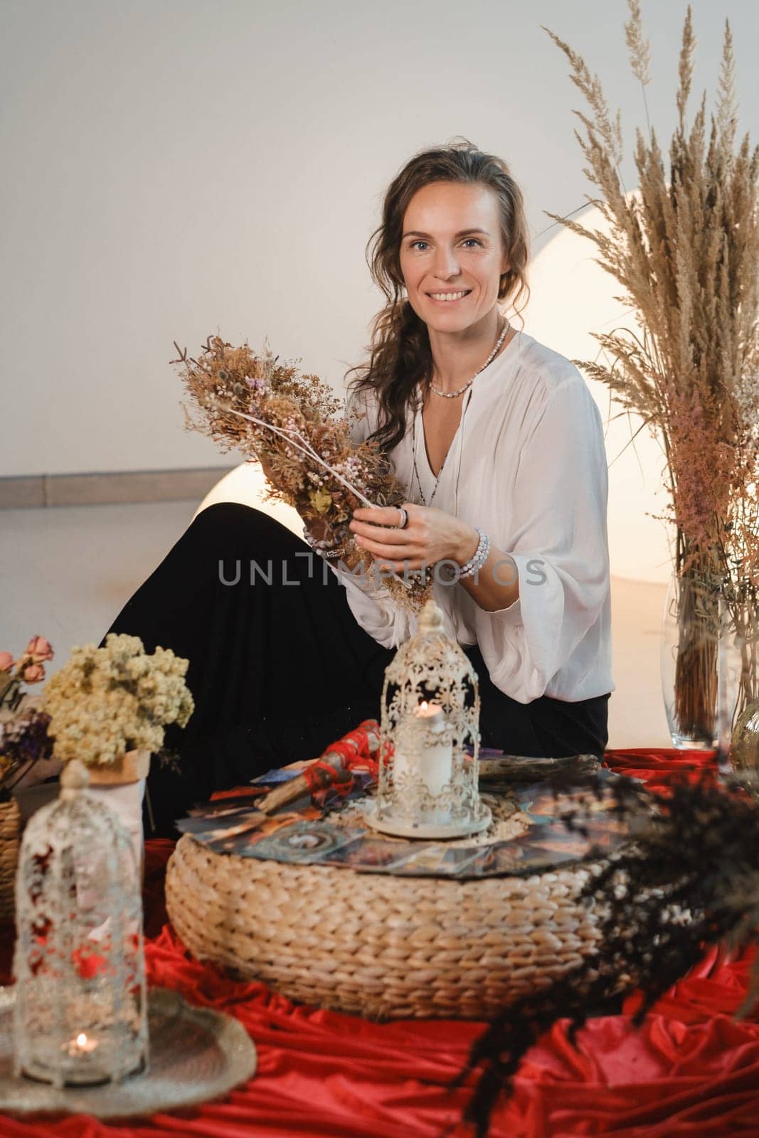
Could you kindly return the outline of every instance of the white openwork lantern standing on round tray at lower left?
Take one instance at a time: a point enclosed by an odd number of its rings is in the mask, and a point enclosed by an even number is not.
[[[32,815],[16,876],[14,1074],[64,1085],[147,1070],[140,874],[116,815],[66,764]]]

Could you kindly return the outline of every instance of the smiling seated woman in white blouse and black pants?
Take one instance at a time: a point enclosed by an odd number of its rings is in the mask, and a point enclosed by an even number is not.
[[[379,567],[436,567],[448,634],[479,677],[485,745],[602,756],[614,687],[603,430],[574,364],[501,313],[528,291],[520,190],[470,142],[424,150],[390,184],[373,238],[388,304],[347,412],[406,502],[355,510],[356,542]],[[378,717],[415,617],[308,552],[261,511],[211,506],[112,627],[190,659],[196,712],[167,737],[180,776],[154,764],[149,782],[159,832],[193,799]],[[222,564],[262,559],[287,571],[224,584]]]

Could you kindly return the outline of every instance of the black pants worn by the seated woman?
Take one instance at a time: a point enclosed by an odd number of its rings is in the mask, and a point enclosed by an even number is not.
[[[190,661],[196,709],[165,739],[180,761],[173,769],[154,760],[148,780],[147,832],[159,834],[213,791],[314,758],[362,719],[378,719],[396,651],[361,628],[345,588],[302,538],[236,503],[198,514],[108,632]],[[603,754],[609,695],[518,703],[490,683],[477,645],[464,650],[479,677],[482,745]]]

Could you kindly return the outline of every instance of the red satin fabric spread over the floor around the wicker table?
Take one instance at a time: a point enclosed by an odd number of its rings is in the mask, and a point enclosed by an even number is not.
[[[667,775],[709,756],[610,751],[611,767],[666,785]],[[472,1079],[448,1094],[482,1025],[456,1021],[376,1024],[295,1006],[259,983],[234,981],[190,959],[166,925],[167,841],[148,842],[146,954],[150,981],[193,1004],[237,1016],[258,1048],[258,1073],[224,1100],[149,1121],[105,1124],[77,1115],[22,1121],[0,1115],[2,1138],[449,1138]],[[163,926],[163,927],[162,927]],[[10,931],[2,945],[9,948]],[[759,1138],[759,1021],[731,1016],[746,990],[749,954],[710,951],[660,1000],[640,1030],[625,1014],[591,1020],[567,1040],[554,1024],[527,1055],[512,1097],[494,1114],[493,1138]]]

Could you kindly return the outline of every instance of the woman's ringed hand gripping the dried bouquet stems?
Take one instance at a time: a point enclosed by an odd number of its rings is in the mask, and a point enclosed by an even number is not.
[[[356,545],[368,550],[380,568],[396,572],[431,567],[438,561],[452,560],[463,566],[475,555],[479,535],[473,526],[454,518],[445,510],[404,502],[409,522],[404,529],[394,528],[401,521],[397,505],[361,506],[353,511],[349,525]]]

